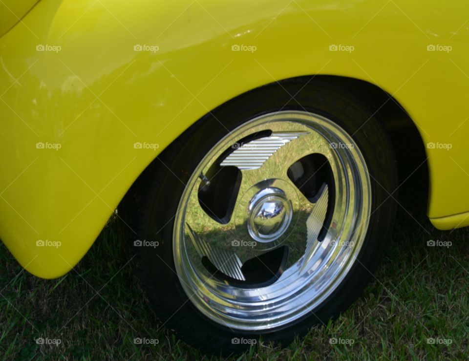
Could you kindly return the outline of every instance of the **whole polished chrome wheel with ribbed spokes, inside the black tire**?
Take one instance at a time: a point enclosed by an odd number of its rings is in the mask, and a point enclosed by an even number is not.
[[[283,327],[341,284],[370,208],[365,161],[341,127],[303,111],[262,115],[193,171],[175,217],[175,269],[190,301],[216,323]]]

